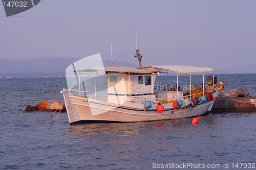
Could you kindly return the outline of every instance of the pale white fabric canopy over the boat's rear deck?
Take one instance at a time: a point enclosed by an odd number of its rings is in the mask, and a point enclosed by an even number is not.
[[[214,70],[212,68],[206,67],[194,67],[187,65],[156,65],[156,66],[146,66],[143,67],[146,70],[152,71],[166,71],[166,72],[177,72],[178,75],[189,75],[189,74],[197,74],[197,75],[208,75],[214,74]]]

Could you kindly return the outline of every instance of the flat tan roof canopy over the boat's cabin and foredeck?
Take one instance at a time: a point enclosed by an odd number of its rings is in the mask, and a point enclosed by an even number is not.
[[[151,70],[138,69],[134,67],[95,67],[95,68],[87,68],[87,69],[76,69],[74,70],[80,72],[96,72],[96,71],[106,71],[106,72],[120,72],[120,73],[137,73],[137,74],[152,74]]]

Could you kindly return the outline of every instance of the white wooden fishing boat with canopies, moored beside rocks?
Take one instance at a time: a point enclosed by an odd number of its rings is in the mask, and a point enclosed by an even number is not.
[[[135,57],[139,59],[140,67],[101,66],[72,70],[77,83],[60,91],[70,124],[128,123],[198,116],[211,110],[219,90],[224,87],[223,83],[217,83],[215,69],[184,65],[142,67],[142,56],[138,51]],[[82,80],[84,75],[90,76]],[[104,79],[100,78],[102,76]],[[160,88],[156,80],[161,76],[167,77],[164,79],[167,82]],[[179,85],[183,76],[190,79],[187,89]],[[200,87],[191,85],[194,76],[202,77]],[[171,84],[174,79],[176,84]],[[86,84],[90,84],[90,88]]]

